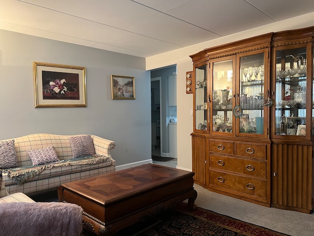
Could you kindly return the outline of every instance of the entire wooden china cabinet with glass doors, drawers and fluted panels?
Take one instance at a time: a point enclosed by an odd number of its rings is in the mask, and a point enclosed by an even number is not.
[[[312,212],[313,30],[263,34],[190,56],[195,182]]]

